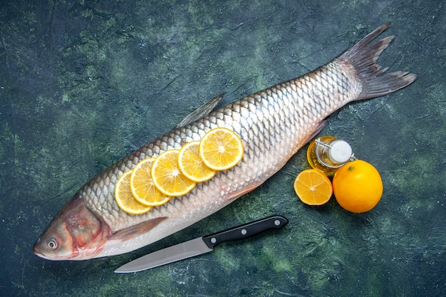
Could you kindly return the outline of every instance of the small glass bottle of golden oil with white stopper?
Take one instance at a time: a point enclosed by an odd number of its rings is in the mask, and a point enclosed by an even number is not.
[[[354,160],[348,142],[329,135],[313,140],[308,146],[306,157],[311,167],[321,170],[328,177],[332,177],[346,162]]]

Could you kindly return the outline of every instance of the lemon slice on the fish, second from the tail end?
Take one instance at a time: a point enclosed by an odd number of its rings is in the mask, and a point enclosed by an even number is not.
[[[215,170],[210,169],[199,157],[199,141],[186,143],[178,153],[178,167],[185,177],[194,182],[205,182],[214,177]]]

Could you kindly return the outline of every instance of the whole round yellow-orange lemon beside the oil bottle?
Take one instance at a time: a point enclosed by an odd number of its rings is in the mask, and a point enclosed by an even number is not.
[[[383,196],[383,180],[373,165],[363,160],[348,162],[333,177],[333,193],[349,212],[368,212]]]

